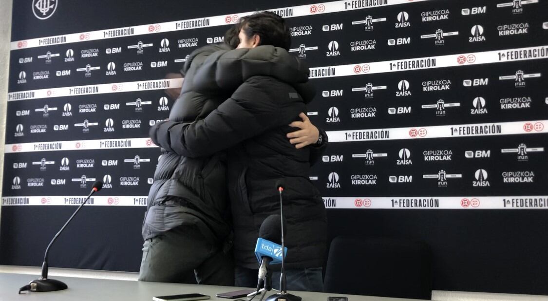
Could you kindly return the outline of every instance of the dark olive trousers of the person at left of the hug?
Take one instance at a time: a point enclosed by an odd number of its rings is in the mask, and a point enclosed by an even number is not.
[[[139,280],[233,286],[232,253],[223,252],[221,246],[194,225],[165,231],[145,241]]]

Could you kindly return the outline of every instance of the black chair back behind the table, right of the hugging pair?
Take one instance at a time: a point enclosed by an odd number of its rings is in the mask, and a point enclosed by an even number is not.
[[[430,300],[430,247],[401,238],[335,237],[329,249],[324,291]]]

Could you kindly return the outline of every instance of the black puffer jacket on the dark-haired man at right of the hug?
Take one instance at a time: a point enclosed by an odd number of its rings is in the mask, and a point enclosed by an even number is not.
[[[279,213],[275,187],[284,179],[287,222],[287,267],[322,266],[326,248],[326,209],[309,180],[310,147],[295,149],[286,138],[288,126],[306,111],[313,89],[308,69],[286,50],[272,46],[217,52],[194,79],[207,87],[235,90],[203,120],[165,122],[162,147],[189,157],[227,150],[227,181],[234,227],[236,264],[257,267],[255,242],[262,221]],[[162,130],[162,133],[165,133]]]

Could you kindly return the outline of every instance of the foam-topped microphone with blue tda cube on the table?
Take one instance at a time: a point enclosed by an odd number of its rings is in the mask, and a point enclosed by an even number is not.
[[[270,215],[262,222],[259,229],[259,238],[255,245],[255,256],[260,263],[259,281],[265,279],[269,264],[282,263],[282,246],[280,246],[282,224],[279,222],[280,219],[281,215],[279,214]],[[287,248],[284,248],[284,253],[287,253]]]

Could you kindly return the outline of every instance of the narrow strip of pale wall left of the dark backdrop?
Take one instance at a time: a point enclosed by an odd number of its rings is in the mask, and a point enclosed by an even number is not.
[[[5,110],[8,105],[9,42],[12,36],[12,0],[0,0],[0,195],[4,171]],[[0,214],[2,202],[0,202]]]

